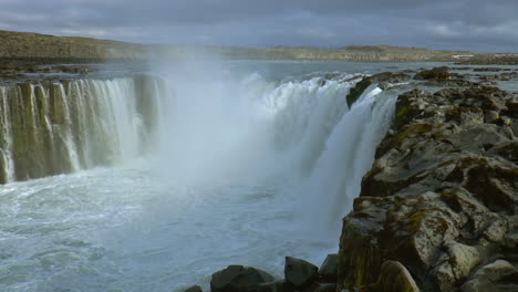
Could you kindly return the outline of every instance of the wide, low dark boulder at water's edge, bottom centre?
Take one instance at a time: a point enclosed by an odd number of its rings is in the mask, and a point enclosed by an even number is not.
[[[213,274],[210,290],[213,292],[249,291],[262,283],[273,282],[269,273],[252,267],[232,264]]]

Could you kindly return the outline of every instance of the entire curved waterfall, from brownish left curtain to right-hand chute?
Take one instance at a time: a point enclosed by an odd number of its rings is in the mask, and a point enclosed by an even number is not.
[[[336,226],[330,222],[358,196],[395,102],[373,86],[348,108],[344,96],[358,82],[350,77],[183,72],[3,85],[0,182],[120,164],[158,146],[162,173],[178,181],[291,181],[301,208],[312,206],[303,212],[311,222]]]

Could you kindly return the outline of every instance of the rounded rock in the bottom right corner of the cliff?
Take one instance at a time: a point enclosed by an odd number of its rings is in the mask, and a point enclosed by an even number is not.
[[[497,260],[478,269],[473,279],[462,286],[462,291],[518,291],[518,270],[507,261]]]

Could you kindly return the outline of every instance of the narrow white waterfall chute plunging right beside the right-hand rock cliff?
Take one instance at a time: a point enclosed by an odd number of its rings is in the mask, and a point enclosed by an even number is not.
[[[298,188],[304,194],[303,219],[320,236],[340,234],[341,219],[360,195],[362,177],[371,168],[375,149],[391,125],[395,97],[395,92],[383,92],[376,86],[365,90],[341,116],[310,177]]]

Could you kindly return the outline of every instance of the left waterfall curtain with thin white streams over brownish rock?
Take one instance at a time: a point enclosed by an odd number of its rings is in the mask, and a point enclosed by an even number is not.
[[[41,81],[0,86],[0,182],[137,157],[153,144],[159,81]]]

